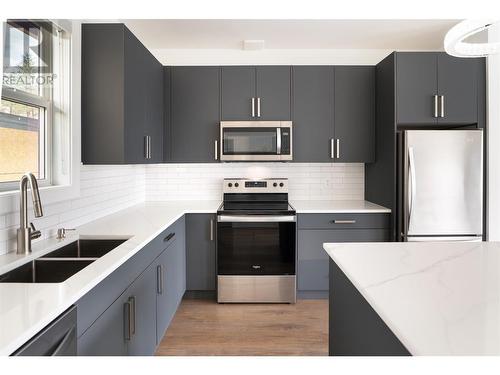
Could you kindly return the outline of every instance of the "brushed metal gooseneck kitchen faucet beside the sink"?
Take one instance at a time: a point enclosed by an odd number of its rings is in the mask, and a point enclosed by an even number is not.
[[[33,173],[26,173],[19,181],[19,201],[21,202],[19,214],[19,229],[17,230],[17,254],[31,253],[31,240],[42,234],[35,229],[33,223],[28,226],[28,182],[30,184],[31,198],[35,217],[43,216],[42,202],[38,191],[38,183]]]

